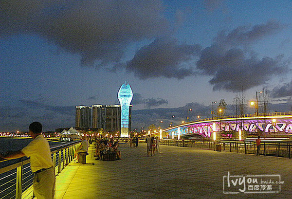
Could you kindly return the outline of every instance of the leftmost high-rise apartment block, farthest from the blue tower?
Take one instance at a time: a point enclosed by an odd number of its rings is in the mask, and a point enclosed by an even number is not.
[[[91,107],[76,106],[75,127],[78,128],[91,127]]]

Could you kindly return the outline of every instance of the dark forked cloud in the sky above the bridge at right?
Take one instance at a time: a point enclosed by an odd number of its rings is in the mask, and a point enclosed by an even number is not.
[[[253,27],[241,26],[226,34],[222,31],[214,43],[201,51],[197,69],[210,75],[213,90],[240,91],[262,85],[274,75],[287,72],[289,62],[280,54],[274,58],[258,55],[247,50],[265,36],[271,36],[283,29],[276,21]]]

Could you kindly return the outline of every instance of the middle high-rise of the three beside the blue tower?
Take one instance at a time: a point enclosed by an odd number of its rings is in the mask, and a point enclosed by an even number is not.
[[[100,104],[92,105],[92,128],[105,128],[106,107]]]

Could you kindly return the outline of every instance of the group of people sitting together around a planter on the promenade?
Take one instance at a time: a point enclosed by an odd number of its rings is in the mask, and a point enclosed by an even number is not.
[[[110,158],[114,160],[121,159],[121,152],[118,151],[118,142],[113,142],[110,140],[96,140],[95,144],[95,154],[97,157],[95,160],[109,160]]]

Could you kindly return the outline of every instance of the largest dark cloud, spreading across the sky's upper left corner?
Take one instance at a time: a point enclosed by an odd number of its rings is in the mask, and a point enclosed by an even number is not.
[[[115,65],[129,42],[169,32],[163,11],[160,0],[2,0],[0,36],[38,35],[83,65]]]

